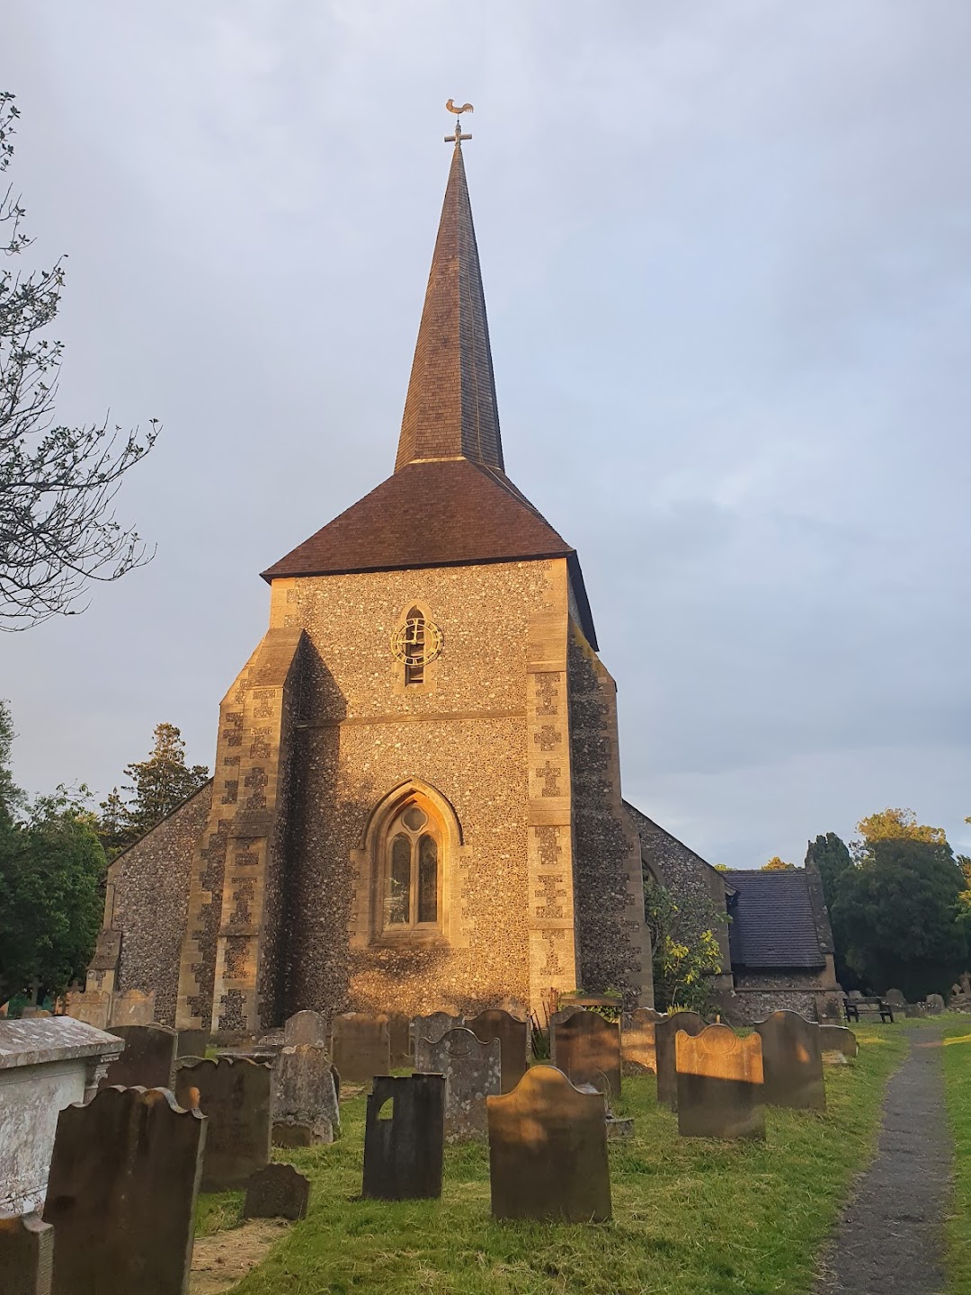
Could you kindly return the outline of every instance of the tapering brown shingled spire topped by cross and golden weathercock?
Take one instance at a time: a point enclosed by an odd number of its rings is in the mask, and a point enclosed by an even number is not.
[[[456,109],[449,100],[451,111]],[[395,471],[422,460],[469,458],[502,471],[486,298],[465,180],[462,135],[448,174],[439,233],[408,383]]]

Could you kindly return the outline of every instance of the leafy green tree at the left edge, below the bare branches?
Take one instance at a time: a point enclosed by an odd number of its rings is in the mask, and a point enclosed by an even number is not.
[[[83,978],[105,868],[91,815],[63,787],[0,831],[0,998],[58,995]]]

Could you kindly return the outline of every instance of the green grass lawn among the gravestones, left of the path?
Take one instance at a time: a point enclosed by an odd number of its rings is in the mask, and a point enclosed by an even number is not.
[[[805,1292],[852,1176],[873,1154],[884,1084],[906,1050],[900,1027],[856,1033],[858,1058],[826,1067],[826,1114],[770,1109],[764,1143],[682,1141],[676,1116],[656,1106],[654,1079],[625,1077],[618,1114],[634,1118],[636,1136],[611,1143],[614,1219],[599,1225],[493,1222],[483,1146],[447,1150],[440,1200],[359,1199],[365,1099],[355,1098],[342,1105],[334,1146],[276,1153],[309,1176],[309,1215],[234,1290]],[[966,1112],[971,1140],[971,1101]],[[971,1204],[971,1178],[965,1191]],[[240,1199],[202,1198],[199,1233],[232,1226]]]

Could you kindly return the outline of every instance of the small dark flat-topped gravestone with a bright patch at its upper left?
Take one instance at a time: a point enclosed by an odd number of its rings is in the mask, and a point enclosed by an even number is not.
[[[444,1143],[444,1076],[378,1076],[368,1097],[361,1195],[379,1200],[440,1197]]]

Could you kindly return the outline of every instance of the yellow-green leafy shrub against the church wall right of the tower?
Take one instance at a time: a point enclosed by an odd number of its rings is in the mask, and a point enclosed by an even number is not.
[[[645,879],[643,909],[654,951],[654,1001],[659,1010],[691,1008],[703,1011],[711,998],[711,978],[721,971],[715,931],[728,916],[695,892],[677,899],[659,882]]]

